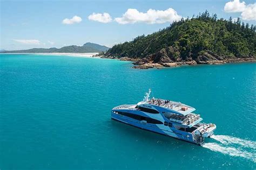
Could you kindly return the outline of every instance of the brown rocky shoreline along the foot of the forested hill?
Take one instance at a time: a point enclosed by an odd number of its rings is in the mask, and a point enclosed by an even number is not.
[[[153,54],[143,59],[134,59],[128,57],[117,58],[115,56],[99,56],[100,58],[106,59],[118,59],[121,61],[132,61],[133,68],[137,69],[149,69],[149,68],[163,68],[163,67],[179,67],[184,65],[221,65],[225,63],[236,63],[236,62],[256,62],[255,57],[250,58],[225,58],[211,52],[206,52],[203,55],[197,57],[197,59],[188,58],[186,61],[182,60],[171,60],[164,51],[160,51],[160,54]]]

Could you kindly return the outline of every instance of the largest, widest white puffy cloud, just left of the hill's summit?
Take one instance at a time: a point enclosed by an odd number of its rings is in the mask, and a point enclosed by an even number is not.
[[[180,20],[181,16],[172,8],[167,10],[149,9],[146,13],[139,12],[137,9],[128,9],[122,17],[114,20],[119,24],[147,23],[147,24],[162,24]]]

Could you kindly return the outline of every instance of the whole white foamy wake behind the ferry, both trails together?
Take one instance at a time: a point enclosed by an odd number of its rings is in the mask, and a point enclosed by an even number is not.
[[[256,162],[256,142],[225,135],[211,136],[219,143],[204,143],[202,146],[214,152],[242,157]]]

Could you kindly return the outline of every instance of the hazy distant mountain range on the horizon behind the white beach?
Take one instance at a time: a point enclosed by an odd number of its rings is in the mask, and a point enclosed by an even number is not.
[[[108,49],[109,47],[87,42],[83,46],[71,45],[62,48],[32,48],[14,51],[0,51],[0,53],[97,53],[105,52]]]

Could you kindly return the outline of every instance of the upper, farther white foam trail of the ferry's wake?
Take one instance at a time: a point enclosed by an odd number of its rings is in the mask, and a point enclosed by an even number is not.
[[[212,139],[218,140],[221,144],[238,144],[243,147],[253,148],[256,150],[256,142],[246,139],[240,139],[232,136],[226,136],[226,135],[212,135]]]

